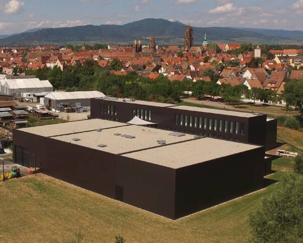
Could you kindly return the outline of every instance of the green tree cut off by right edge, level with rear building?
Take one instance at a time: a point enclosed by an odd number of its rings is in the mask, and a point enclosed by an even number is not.
[[[294,106],[299,109],[301,116],[303,115],[303,81],[290,80],[284,86],[283,97],[286,101],[286,106]]]

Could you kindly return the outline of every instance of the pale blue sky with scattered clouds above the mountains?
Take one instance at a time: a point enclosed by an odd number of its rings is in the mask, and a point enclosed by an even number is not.
[[[303,0],[0,0],[0,34],[145,18],[199,27],[303,30]]]

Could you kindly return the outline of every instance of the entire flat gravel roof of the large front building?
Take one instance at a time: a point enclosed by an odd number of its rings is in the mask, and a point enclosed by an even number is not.
[[[19,130],[173,169],[261,147],[213,138],[197,138],[189,134],[172,136],[171,131],[102,119]]]

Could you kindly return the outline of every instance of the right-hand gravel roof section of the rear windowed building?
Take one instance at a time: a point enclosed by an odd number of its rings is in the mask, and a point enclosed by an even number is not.
[[[186,106],[186,105],[178,105],[178,106],[173,106],[173,107],[169,107],[169,108],[170,109],[189,110],[189,111],[198,111],[198,112],[205,112],[205,113],[213,113],[213,114],[222,114],[222,115],[234,115],[234,116],[248,117],[248,118],[262,115],[262,114],[254,114],[254,113],[239,112],[239,111],[232,111],[232,110],[210,109],[210,108]]]

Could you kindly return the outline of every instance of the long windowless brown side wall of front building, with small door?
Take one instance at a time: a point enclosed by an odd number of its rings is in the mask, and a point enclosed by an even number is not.
[[[173,169],[18,130],[14,145],[30,150],[32,166],[35,154],[46,175],[111,198],[122,186],[125,203],[174,218]]]

